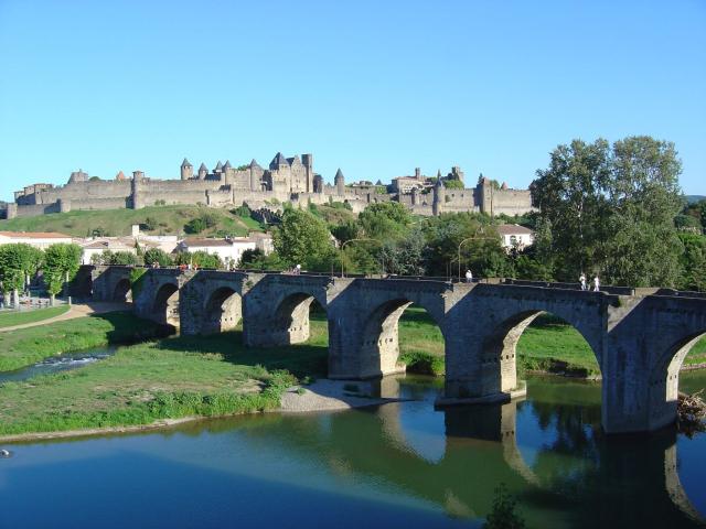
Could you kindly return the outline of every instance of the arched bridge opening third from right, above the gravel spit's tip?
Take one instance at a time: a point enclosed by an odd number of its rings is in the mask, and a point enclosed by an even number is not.
[[[361,337],[362,376],[396,373],[443,374],[443,333],[431,314],[406,299],[373,311]]]

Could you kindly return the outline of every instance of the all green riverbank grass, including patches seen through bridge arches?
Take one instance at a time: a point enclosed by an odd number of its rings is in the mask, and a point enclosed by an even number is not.
[[[135,330],[140,328],[138,335]],[[145,425],[164,419],[272,410],[286,388],[327,373],[325,316],[312,311],[304,344],[246,348],[242,331],[165,337],[121,347],[81,369],[0,385],[0,435]],[[157,336],[160,327],[129,313],[57,322],[0,335],[0,370],[60,352]],[[439,327],[419,307],[399,322],[400,361],[409,371],[443,373]],[[539,317],[517,346],[521,369],[598,373],[588,344],[573,327]],[[702,341],[686,364],[706,359]],[[8,367],[10,366],[10,367]]]

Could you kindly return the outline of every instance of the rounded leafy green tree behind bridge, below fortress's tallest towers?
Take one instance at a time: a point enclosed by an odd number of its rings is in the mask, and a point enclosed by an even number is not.
[[[327,225],[311,213],[287,209],[274,233],[275,250],[288,266],[308,270],[327,270],[335,259]]]

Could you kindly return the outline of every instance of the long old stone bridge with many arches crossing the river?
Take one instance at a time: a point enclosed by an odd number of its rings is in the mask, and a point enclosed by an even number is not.
[[[95,300],[130,295],[128,267],[93,269]],[[246,346],[296,344],[309,336],[309,307],[327,313],[329,377],[397,373],[397,322],[411,303],[436,321],[446,347],[446,402],[493,402],[522,392],[515,347],[543,312],[573,325],[602,375],[602,424],[609,433],[674,422],[678,373],[706,334],[706,295],[665,289],[533,282],[452,283],[281,273],[148,270],[132,288],[135,312],[182,334],[211,334],[243,322]]]

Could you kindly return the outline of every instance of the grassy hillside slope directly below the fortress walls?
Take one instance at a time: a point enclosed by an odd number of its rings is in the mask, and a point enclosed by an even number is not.
[[[94,229],[101,228],[106,235],[130,235],[133,224],[143,224],[148,217],[154,223],[154,229],[146,231],[152,235],[180,235],[189,220],[210,213],[217,217],[214,227],[200,235],[216,235],[218,231],[244,236],[248,231],[261,231],[259,223],[249,217],[233,215],[227,209],[205,206],[150,206],[142,209],[109,209],[55,213],[36,217],[20,217],[0,220],[0,230],[11,231],[58,231],[75,237],[86,237]]]

